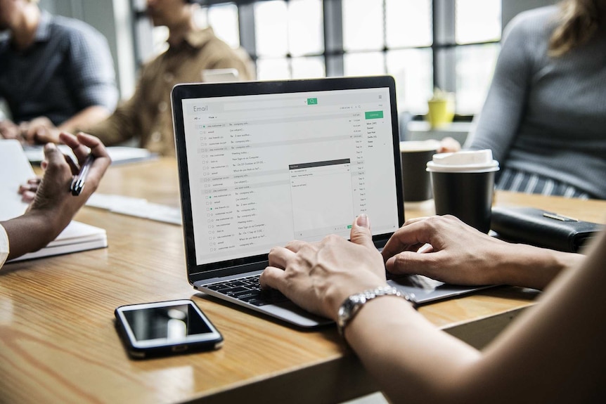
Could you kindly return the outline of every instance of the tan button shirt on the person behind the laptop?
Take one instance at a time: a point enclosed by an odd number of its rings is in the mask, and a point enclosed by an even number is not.
[[[202,70],[235,68],[240,79],[254,79],[250,59],[243,59],[212,28],[191,32],[179,46],[143,67],[134,95],[105,121],[84,129],[114,145],[138,138],[142,148],[174,155],[170,91],[175,84],[202,82]]]

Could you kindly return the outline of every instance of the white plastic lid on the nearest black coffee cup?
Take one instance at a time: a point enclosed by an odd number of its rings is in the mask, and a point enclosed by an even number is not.
[[[427,162],[427,171],[485,173],[498,171],[498,162],[492,158],[492,150],[465,150],[439,153]]]

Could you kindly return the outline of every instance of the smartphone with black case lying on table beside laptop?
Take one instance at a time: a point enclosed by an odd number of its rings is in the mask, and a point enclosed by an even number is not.
[[[120,306],[115,315],[131,358],[209,351],[223,345],[221,333],[188,299]]]

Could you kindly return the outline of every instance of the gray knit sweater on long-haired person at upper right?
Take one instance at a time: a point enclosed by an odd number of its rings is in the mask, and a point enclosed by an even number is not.
[[[502,168],[574,185],[606,199],[606,27],[559,58],[547,55],[555,6],[517,15],[466,143]]]

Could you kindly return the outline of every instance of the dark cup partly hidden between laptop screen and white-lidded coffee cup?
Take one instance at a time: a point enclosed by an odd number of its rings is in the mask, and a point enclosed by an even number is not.
[[[439,141],[434,140],[400,142],[404,202],[432,199],[432,181],[425,168],[439,146]]]

